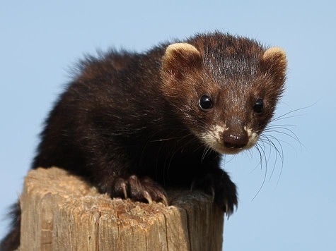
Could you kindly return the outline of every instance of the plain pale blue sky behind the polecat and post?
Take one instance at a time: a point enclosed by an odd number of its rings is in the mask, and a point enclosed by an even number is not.
[[[272,123],[282,133],[267,133],[281,142],[283,164],[267,147],[261,166],[256,151],[225,158],[239,192],[225,250],[336,250],[335,10],[331,0],[1,1],[0,217],[20,195],[42,121],[83,54],[220,30],[282,47],[289,61],[276,117],[290,114]],[[7,226],[0,221],[1,238]]]

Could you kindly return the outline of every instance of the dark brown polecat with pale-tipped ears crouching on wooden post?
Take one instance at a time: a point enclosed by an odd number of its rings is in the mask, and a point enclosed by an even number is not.
[[[45,123],[32,168],[59,166],[111,197],[167,202],[164,188],[202,188],[227,214],[236,185],[221,154],[255,145],[284,90],[286,54],[214,32],[144,54],[81,63]],[[19,244],[20,209],[1,250]]]

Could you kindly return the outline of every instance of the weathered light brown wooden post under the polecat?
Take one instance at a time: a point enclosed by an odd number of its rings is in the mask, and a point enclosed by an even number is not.
[[[30,171],[19,250],[221,250],[224,217],[211,197],[170,190],[168,199],[112,200],[62,169]]]

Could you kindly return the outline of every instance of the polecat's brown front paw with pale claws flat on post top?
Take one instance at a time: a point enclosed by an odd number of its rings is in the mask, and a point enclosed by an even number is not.
[[[130,198],[135,201],[163,202],[168,205],[165,190],[151,178],[132,175],[127,178],[116,178],[114,182],[106,187],[105,192],[111,197]]]

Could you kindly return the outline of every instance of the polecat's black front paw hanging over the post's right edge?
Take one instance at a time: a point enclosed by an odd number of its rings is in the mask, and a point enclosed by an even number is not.
[[[230,216],[238,206],[236,185],[228,174],[221,169],[213,169],[202,177],[196,178],[193,187],[201,188],[214,197],[214,202]]]

